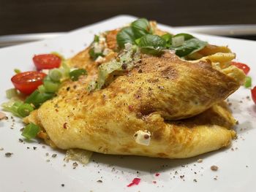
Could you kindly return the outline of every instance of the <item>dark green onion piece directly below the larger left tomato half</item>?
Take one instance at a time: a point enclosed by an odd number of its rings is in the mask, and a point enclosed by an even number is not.
[[[34,107],[39,107],[45,101],[52,99],[54,95],[54,93],[40,93],[36,90],[26,98],[25,103],[34,104]]]

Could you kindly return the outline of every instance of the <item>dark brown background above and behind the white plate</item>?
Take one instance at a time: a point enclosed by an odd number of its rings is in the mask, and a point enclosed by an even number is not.
[[[0,35],[69,31],[121,14],[170,26],[256,24],[256,0],[0,0]]]

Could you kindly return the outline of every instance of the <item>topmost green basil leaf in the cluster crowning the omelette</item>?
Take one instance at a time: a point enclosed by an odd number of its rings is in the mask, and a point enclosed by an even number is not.
[[[146,18],[140,18],[131,23],[135,38],[138,39],[146,34],[152,34],[151,26]]]

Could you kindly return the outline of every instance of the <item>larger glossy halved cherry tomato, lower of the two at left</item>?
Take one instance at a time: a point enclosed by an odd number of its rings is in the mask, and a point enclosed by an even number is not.
[[[15,74],[11,80],[18,91],[31,94],[39,85],[42,85],[42,80],[45,76],[46,74],[42,72],[23,72]]]

